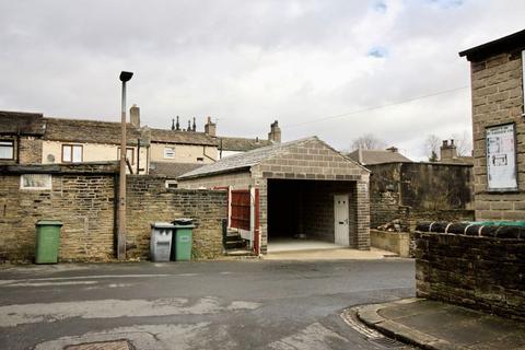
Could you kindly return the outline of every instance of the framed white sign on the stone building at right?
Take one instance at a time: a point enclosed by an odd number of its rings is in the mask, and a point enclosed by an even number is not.
[[[516,190],[516,150],[514,124],[488,127],[487,176],[489,190]]]

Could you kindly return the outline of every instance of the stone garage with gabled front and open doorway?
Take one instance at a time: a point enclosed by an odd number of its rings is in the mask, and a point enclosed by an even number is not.
[[[232,155],[178,177],[180,188],[229,190],[229,226],[256,253],[276,238],[370,248],[370,172],[311,137]]]

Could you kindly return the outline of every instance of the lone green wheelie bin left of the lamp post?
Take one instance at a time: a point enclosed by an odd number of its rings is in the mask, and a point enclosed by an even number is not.
[[[35,264],[57,264],[62,222],[58,220],[38,220],[35,225]]]

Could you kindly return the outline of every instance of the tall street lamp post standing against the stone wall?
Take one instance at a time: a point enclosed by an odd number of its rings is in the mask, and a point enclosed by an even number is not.
[[[117,258],[126,259],[126,82],[128,82],[132,72],[120,72],[122,82],[122,104],[121,104],[121,138],[120,138],[120,173],[118,185],[118,236],[117,236]]]

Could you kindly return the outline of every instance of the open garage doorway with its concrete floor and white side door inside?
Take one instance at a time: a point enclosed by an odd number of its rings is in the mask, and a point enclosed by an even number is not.
[[[268,252],[353,247],[357,208],[355,182],[268,179]]]

